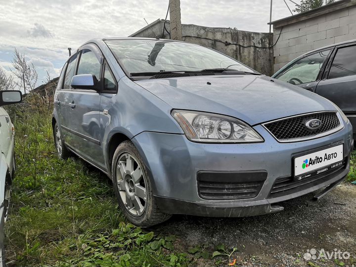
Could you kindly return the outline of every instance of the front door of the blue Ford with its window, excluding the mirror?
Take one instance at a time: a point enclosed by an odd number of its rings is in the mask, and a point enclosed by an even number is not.
[[[100,84],[103,56],[94,44],[82,46],[79,51],[76,74],[90,74]],[[100,134],[100,97],[93,89],[72,89],[69,98],[69,124],[72,149],[100,169],[105,170]]]

